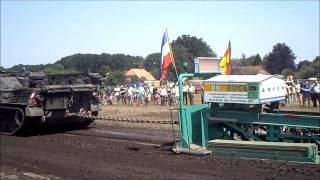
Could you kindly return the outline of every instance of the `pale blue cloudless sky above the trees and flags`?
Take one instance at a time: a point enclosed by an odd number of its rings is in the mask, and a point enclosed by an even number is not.
[[[320,54],[319,0],[297,1],[3,1],[1,66],[54,63],[77,53],[160,53],[183,34],[232,58],[286,43],[301,60]],[[173,52],[174,53],[174,52]],[[176,60],[178,61],[178,60]]]

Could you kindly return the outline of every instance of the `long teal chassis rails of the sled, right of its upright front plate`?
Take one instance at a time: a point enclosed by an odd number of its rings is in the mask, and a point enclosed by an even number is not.
[[[281,132],[281,128],[290,127],[304,129],[309,131],[312,129],[320,129],[320,116],[311,115],[296,115],[296,114],[282,114],[282,113],[259,113],[249,111],[210,111],[210,122],[222,122],[224,126],[229,126],[234,131],[241,131],[236,126],[232,127],[232,123],[243,125],[263,125],[266,126],[267,137],[266,141],[282,141],[283,139],[295,139],[295,140],[309,140],[320,146],[320,138],[310,134],[308,136],[296,136],[296,135],[284,135]],[[209,130],[210,131],[210,130]],[[210,132],[209,132],[210,134]],[[241,134],[244,134],[241,132]],[[259,140],[257,137],[252,137],[251,134],[246,134],[254,140]],[[210,139],[210,138],[209,138]]]

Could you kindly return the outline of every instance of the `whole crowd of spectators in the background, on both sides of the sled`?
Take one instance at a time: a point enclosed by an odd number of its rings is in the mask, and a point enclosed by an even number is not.
[[[155,84],[136,83],[127,86],[117,85],[108,87],[103,93],[104,102],[107,104],[121,104],[127,106],[161,105],[176,106],[180,102],[179,86],[174,83],[156,86]],[[201,94],[203,103],[203,86],[201,82],[185,81],[182,95],[185,104],[193,105],[195,94]],[[320,85],[316,78],[307,80],[294,80],[288,76],[286,80],[285,104],[297,102],[303,107],[320,106]]]

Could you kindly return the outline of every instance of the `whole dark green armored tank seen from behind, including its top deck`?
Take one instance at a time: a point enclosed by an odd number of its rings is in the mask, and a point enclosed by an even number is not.
[[[0,133],[14,135],[32,123],[67,122],[78,117],[89,125],[102,110],[99,85],[80,74],[0,74]]]

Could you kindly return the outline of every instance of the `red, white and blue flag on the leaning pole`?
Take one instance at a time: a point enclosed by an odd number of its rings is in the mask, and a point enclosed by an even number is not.
[[[173,56],[171,54],[168,34],[167,32],[164,32],[161,44],[161,80],[165,80],[167,78],[168,67],[172,62]]]

